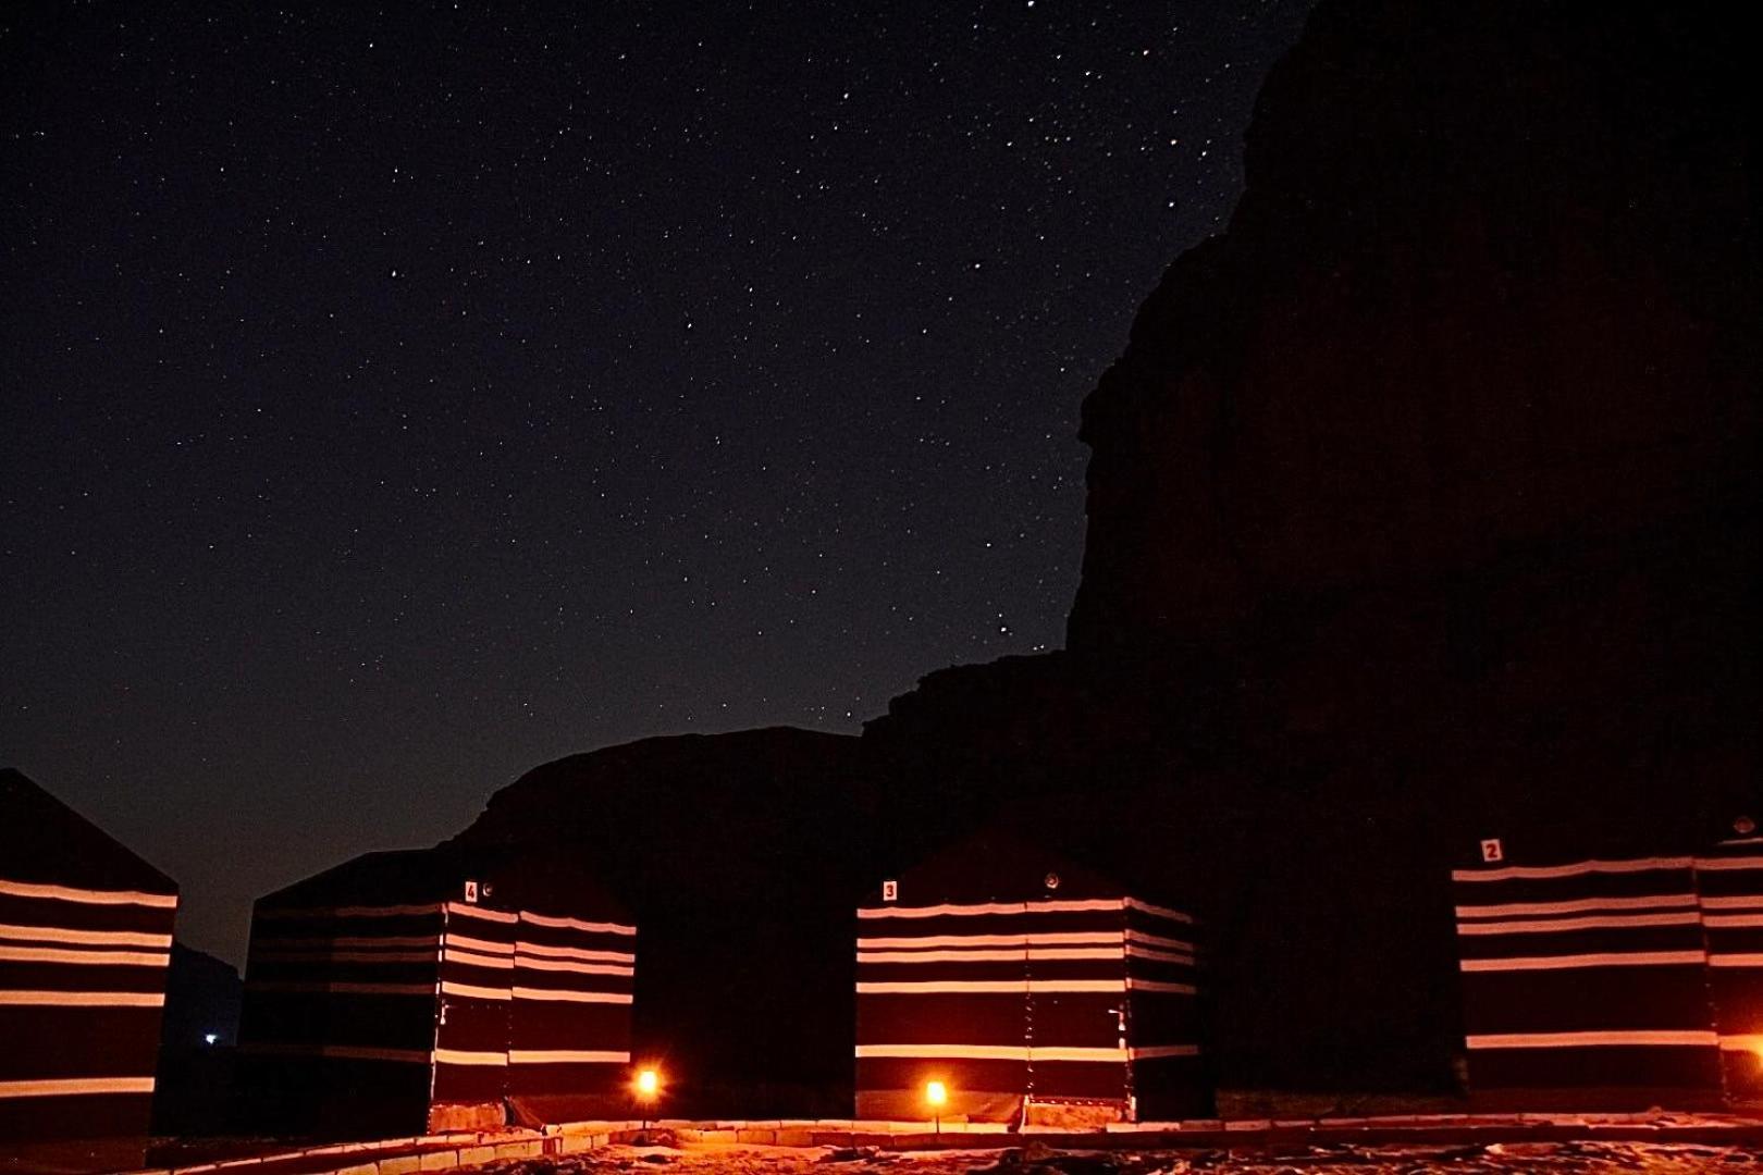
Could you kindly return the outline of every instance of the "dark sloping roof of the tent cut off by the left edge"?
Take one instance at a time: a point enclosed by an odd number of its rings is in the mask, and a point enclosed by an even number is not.
[[[0,877],[85,890],[178,891],[178,883],[14,768],[0,768]]]

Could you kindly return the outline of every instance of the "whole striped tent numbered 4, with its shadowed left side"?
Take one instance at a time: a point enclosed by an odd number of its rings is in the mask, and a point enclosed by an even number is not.
[[[372,853],[257,902],[254,1126],[421,1133],[626,1108],[635,927],[564,856]]]

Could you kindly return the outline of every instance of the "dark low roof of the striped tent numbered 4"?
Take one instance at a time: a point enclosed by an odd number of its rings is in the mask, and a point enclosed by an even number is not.
[[[543,847],[441,844],[365,853],[259,898],[264,905],[400,905],[458,900],[465,881],[488,883],[494,909],[624,918],[578,854]]]

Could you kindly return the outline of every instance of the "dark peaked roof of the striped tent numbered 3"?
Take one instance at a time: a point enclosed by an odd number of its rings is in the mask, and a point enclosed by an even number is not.
[[[1058,874],[1056,890],[1047,874]],[[1128,891],[1118,881],[1000,828],[957,840],[899,876],[903,905],[1120,897]]]

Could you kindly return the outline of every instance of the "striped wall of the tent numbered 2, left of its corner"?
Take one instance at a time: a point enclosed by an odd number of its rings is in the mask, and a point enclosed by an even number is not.
[[[1483,854],[1451,874],[1476,1105],[1717,1106],[1694,858]]]

